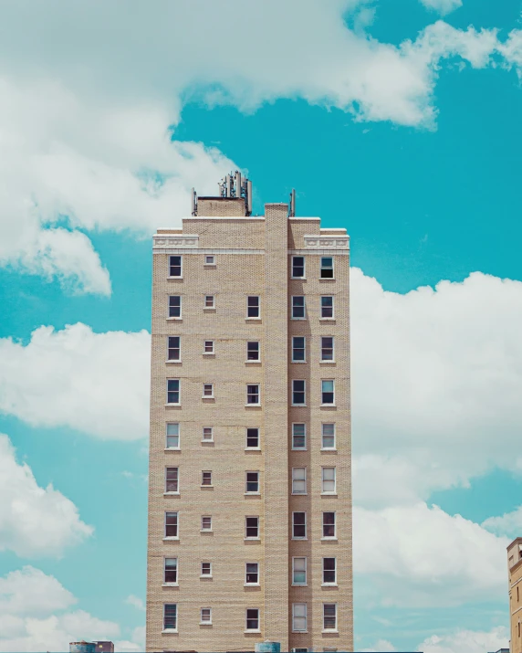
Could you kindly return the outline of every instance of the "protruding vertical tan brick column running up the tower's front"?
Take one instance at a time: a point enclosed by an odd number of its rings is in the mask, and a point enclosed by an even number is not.
[[[288,650],[287,212],[265,205],[265,637]]]

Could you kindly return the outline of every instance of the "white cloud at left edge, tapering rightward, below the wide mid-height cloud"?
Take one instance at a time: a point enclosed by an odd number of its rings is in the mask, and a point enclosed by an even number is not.
[[[38,487],[26,463],[16,462],[15,449],[4,435],[0,435],[0,496],[0,551],[35,558],[60,556],[65,548],[82,542],[93,531],[79,519],[77,507],[61,492],[51,484],[46,489]],[[23,589],[24,583],[30,585],[27,574],[32,572],[30,567],[27,570],[1,581],[0,595],[13,583]],[[51,580],[48,584],[52,585]],[[46,587],[46,592],[49,589]],[[15,595],[10,600],[17,602]],[[0,613],[2,606],[0,600]]]

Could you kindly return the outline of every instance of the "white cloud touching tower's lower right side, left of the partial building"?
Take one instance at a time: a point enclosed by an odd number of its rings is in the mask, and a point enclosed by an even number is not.
[[[353,511],[354,571],[364,601],[457,606],[506,593],[506,538],[425,503]],[[480,574],[476,569],[480,568]]]

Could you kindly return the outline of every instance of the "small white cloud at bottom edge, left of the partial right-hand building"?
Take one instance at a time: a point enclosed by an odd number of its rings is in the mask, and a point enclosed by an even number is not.
[[[485,653],[508,648],[509,632],[506,627],[496,627],[489,632],[460,630],[450,635],[433,635],[424,639],[417,650],[423,653]]]

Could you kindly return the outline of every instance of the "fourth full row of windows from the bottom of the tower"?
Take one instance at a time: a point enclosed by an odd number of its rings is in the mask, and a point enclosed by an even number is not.
[[[292,494],[307,494],[307,468],[292,468]],[[214,487],[213,475],[211,470],[204,470],[201,473],[201,487]],[[259,494],[260,492],[260,472],[245,471],[245,494]],[[165,468],[165,493],[180,493],[180,469],[179,467]],[[336,468],[321,468],[321,493],[336,493]]]

